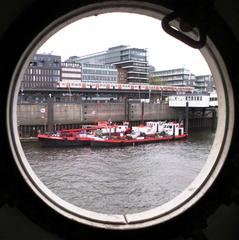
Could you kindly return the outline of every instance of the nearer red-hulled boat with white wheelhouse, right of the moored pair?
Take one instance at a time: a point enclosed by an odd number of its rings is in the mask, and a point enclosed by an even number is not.
[[[153,126],[150,126],[150,124],[153,124]],[[133,127],[130,134],[120,137],[95,137],[90,141],[90,145],[91,147],[134,146],[138,144],[185,139],[188,136],[187,133],[184,133],[184,129],[179,123],[150,122],[150,124]],[[156,132],[155,128],[157,129]]]

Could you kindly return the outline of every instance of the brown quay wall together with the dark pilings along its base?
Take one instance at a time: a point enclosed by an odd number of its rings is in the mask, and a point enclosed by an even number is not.
[[[187,113],[188,111],[188,113]],[[206,112],[206,114],[205,114]],[[18,104],[17,125],[20,137],[36,137],[39,132],[79,128],[98,121],[139,124],[146,121],[184,121],[190,128],[215,128],[216,111],[170,107],[168,103],[47,103]]]

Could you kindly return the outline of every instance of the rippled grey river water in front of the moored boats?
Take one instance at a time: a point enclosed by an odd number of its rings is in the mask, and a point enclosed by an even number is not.
[[[42,148],[24,143],[39,179],[81,208],[109,214],[149,210],[173,199],[202,169],[213,143],[210,130],[187,140],[123,148]]]

